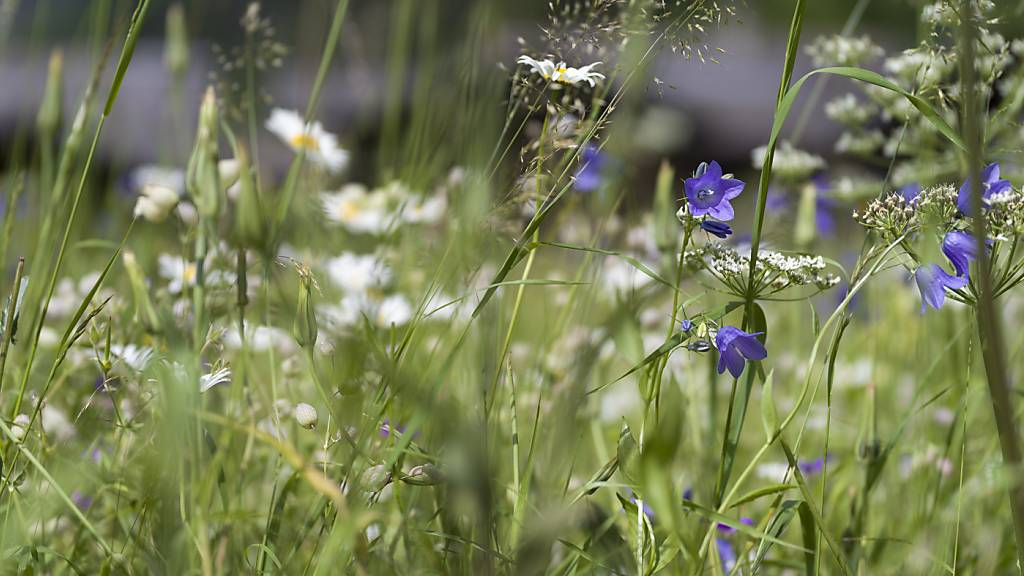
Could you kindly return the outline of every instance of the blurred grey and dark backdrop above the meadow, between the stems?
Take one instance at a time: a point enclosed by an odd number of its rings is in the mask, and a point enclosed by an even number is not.
[[[143,38],[100,142],[101,161],[180,163],[187,151],[199,98],[213,79],[210,73],[217,72],[217,79],[229,81],[221,72],[223,63],[218,63],[217,54],[229,55],[232,47],[243,44],[240,19],[250,3],[183,3],[190,50],[181,102],[173,101],[171,76],[164,64],[165,13],[171,4],[168,0],[152,4]],[[385,64],[394,45],[391,29],[396,4],[393,0],[349,3],[319,114],[325,127],[338,133],[349,148],[357,150],[359,141],[375,138],[387,88]],[[496,67],[513,66],[523,51],[518,38],[525,39],[527,46],[543,49],[540,27],[546,23],[545,0],[436,0],[434,4],[440,20],[438,51],[442,61],[445,51],[460,49],[467,19],[482,4],[488,4],[488,17],[497,31],[487,39],[493,53],[484,59],[490,57]],[[840,32],[856,4],[856,0],[808,2],[804,44],[820,34]],[[304,107],[335,5],[330,0],[261,3],[261,15],[272,23],[272,37],[288,48],[282,66],[269,69],[261,78],[263,91],[272,97],[273,106]],[[750,151],[764,142],[770,125],[792,5],[792,0],[739,4],[738,22],[709,31],[708,44],[725,50],[719,64],[687,61],[669,51],[658,56],[654,74],[665,84],[660,89],[648,88],[643,97],[649,100],[650,125],[668,127],[670,135],[659,154],[680,161],[717,158],[750,167]],[[0,0],[0,26],[8,32],[6,43],[0,45],[0,148],[9,149],[19,123],[25,128],[25,123],[34,121],[48,54],[53,49],[65,54],[65,115],[72,117],[91,70],[104,53],[104,43],[95,40],[97,34],[115,39],[116,53],[133,6],[133,0]],[[887,51],[907,48],[916,43],[920,3],[874,0],[868,3],[854,34],[869,35]],[[416,67],[416,56],[413,53],[408,63],[410,70]],[[108,58],[109,68],[113,59]],[[809,67],[809,58],[802,52],[798,73]],[[821,102],[849,89],[845,81],[833,81]],[[800,145],[828,157],[839,131],[820,108],[819,102]],[[175,117],[176,110],[180,118]],[[287,161],[284,147],[271,142],[264,149],[272,165]]]

